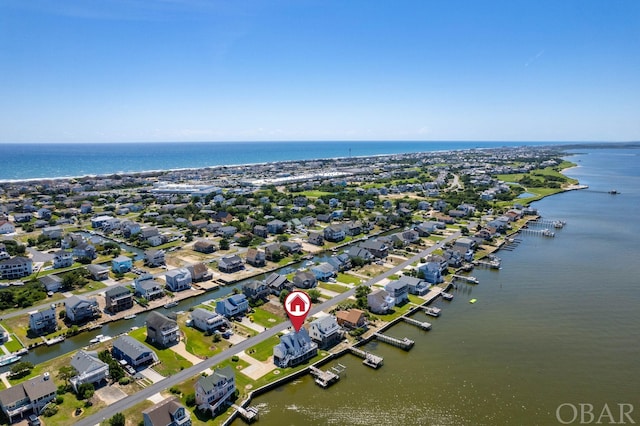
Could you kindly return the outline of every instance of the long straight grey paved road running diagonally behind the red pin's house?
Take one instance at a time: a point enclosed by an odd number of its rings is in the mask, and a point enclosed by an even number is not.
[[[440,241],[439,243],[429,247],[426,250],[423,250],[422,252],[416,254],[415,256],[411,257],[410,259],[408,259],[407,261],[403,262],[402,264],[389,269],[388,271],[384,272],[381,275],[378,275],[375,278],[370,279],[369,281],[367,281],[365,283],[365,285],[367,286],[371,286],[372,284],[375,284],[376,282],[389,277],[390,275],[393,275],[395,273],[398,273],[399,271],[401,271],[403,268],[405,268],[406,266],[410,265],[411,263],[419,260],[421,257],[424,257],[426,255],[428,255],[429,253],[433,252],[436,249],[441,248],[445,243],[458,238],[460,236],[460,232],[456,232],[448,237],[446,237],[444,240]],[[337,303],[340,303],[344,300],[346,300],[347,298],[349,298],[350,296],[355,294],[355,288],[350,289],[349,291],[346,291],[344,293],[341,293],[340,295],[334,297],[333,299],[327,300],[326,302],[323,302],[319,305],[315,305],[310,312],[310,315],[316,314],[322,310],[325,310],[327,308],[332,307],[333,305],[336,305]],[[83,419],[79,422],[76,423],[76,426],[94,426],[99,424],[100,422],[109,419],[110,417],[112,417],[114,414],[122,412],[124,410],[126,410],[127,408],[139,404],[140,402],[144,401],[145,399],[149,398],[150,396],[163,391],[164,389],[167,389],[171,386],[175,386],[179,383],[182,383],[186,380],[188,380],[189,378],[199,375],[200,373],[202,373],[204,370],[206,370],[207,368],[212,368],[217,364],[220,364],[223,361],[226,361],[227,359],[231,358],[234,354],[247,350],[255,345],[257,345],[258,343],[272,337],[275,336],[277,333],[280,333],[281,331],[285,330],[287,327],[289,327],[289,322],[285,321],[283,323],[280,323],[274,327],[271,327],[270,329],[268,329],[267,331],[264,331],[260,334],[258,334],[257,336],[251,337],[241,343],[238,343],[237,345],[234,345],[232,348],[218,354],[215,355],[211,358],[208,358],[206,360],[204,360],[203,362],[199,363],[199,364],[195,364],[189,368],[186,368],[182,371],[179,371],[178,373],[169,376],[167,378],[165,378],[164,380],[158,382],[158,383],[154,383],[153,385],[150,385],[147,388],[144,388],[143,390],[136,392],[133,395],[130,395],[126,398],[121,399],[118,402],[115,402],[111,405],[109,405],[106,408],[103,408],[101,411],[99,411],[98,413],[87,417],[86,419]]]

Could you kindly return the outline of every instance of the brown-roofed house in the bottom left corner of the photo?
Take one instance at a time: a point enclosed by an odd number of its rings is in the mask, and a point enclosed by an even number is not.
[[[0,391],[0,408],[9,424],[33,413],[39,416],[42,409],[56,398],[58,387],[46,372]]]

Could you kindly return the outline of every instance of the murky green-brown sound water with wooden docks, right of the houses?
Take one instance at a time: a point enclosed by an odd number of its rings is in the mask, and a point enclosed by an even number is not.
[[[323,367],[347,367],[328,389],[304,376],[257,397],[260,424],[557,425],[572,420],[569,405],[557,417],[561,404],[581,403],[596,416],[605,404],[616,413],[631,404],[639,423],[640,150],[569,159],[579,166],[567,174],[589,189],[536,203],[567,221],[555,238],[522,236],[498,253],[500,271],[476,269],[480,284],[438,301],[440,318],[415,316],[431,331],[388,330],[415,340],[409,352],[370,343],[385,359],[379,370],[346,355]]]

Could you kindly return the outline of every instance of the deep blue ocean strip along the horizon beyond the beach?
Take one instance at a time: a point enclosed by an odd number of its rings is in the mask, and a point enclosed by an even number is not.
[[[549,144],[403,141],[0,144],[0,181]]]

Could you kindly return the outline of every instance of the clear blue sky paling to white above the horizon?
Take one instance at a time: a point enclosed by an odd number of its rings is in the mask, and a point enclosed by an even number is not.
[[[640,139],[636,0],[0,0],[0,142]]]

